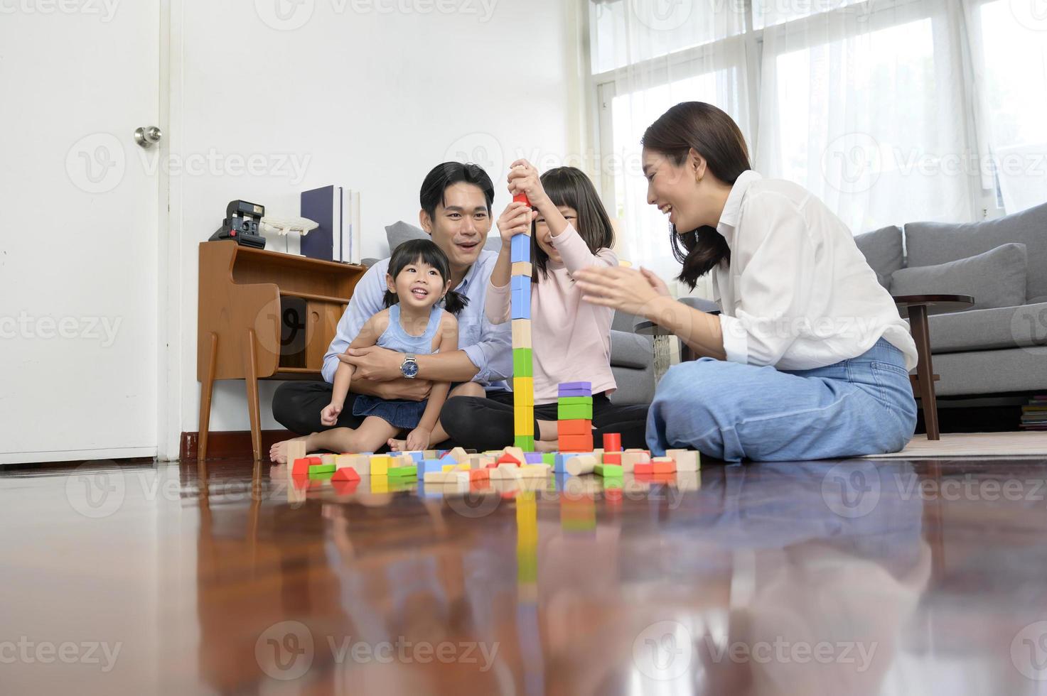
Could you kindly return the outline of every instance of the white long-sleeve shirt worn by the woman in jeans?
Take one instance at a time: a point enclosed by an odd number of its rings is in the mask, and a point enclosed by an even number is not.
[[[730,264],[712,271],[727,359],[812,369],[881,337],[916,366],[916,344],[843,221],[802,186],[741,174],[716,231]]]

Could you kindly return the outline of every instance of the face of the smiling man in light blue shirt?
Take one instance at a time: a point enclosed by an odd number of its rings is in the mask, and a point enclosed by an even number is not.
[[[430,220],[422,210],[422,229],[433,243],[443,249],[451,268],[472,266],[484,249],[487,233],[491,231],[491,216],[487,199],[478,186],[459,182],[444,189],[444,201],[437,205]]]

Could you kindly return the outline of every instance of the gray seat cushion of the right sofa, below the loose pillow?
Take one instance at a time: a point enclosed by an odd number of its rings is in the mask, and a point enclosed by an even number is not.
[[[1047,302],[938,314],[928,328],[933,354],[1024,347],[1047,355]]]

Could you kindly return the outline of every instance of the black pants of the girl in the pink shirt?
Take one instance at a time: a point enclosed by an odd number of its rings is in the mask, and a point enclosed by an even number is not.
[[[616,406],[602,394],[593,397],[594,447],[601,447],[603,435],[618,432],[622,447],[646,447],[646,405]],[[534,432],[537,421],[555,421],[556,404],[534,407]],[[465,447],[484,450],[500,449],[513,444],[513,395],[510,391],[489,391],[486,399],[455,397],[448,399],[440,411],[440,422],[450,439]]]

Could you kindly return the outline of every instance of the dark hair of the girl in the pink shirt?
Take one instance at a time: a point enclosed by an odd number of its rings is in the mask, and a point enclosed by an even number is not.
[[[610,217],[584,172],[574,166],[558,166],[541,175],[541,186],[553,205],[565,205],[578,211],[575,229],[589,251],[596,253],[614,246],[615,228],[610,225]],[[534,260],[532,279],[537,282],[539,273],[541,277],[549,277],[549,254],[538,246],[534,234],[531,235],[531,257]]]

